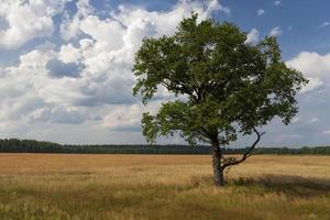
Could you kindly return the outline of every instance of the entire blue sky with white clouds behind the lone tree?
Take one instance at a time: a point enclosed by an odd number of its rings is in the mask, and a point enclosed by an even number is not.
[[[235,23],[252,43],[277,36],[287,66],[309,79],[299,113],[289,125],[275,119],[261,128],[261,145],[329,145],[329,9],[328,0],[0,0],[0,138],[145,143],[141,114],[168,96],[146,107],[132,96],[134,54],[144,36],[170,35],[196,11]]]

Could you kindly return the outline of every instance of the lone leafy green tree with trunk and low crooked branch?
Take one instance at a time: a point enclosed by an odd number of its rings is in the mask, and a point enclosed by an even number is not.
[[[264,134],[257,128],[279,117],[287,124],[297,113],[297,91],[307,84],[282,61],[275,37],[246,43],[234,24],[212,19],[198,22],[193,13],[173,36],[144,38],[135,55],[134,96],[147,103],[160,87],[174,95],[155,116],[143,113],[148,142],[178,133],[190,144],[210,143],[215,184],[223,170],[245,161]],[[223,155],[238,135],[256,134],[241,157]]]

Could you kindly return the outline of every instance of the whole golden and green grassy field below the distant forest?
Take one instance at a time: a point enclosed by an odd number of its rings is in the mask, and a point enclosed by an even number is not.
[[[326,219],[330,156],[0,154],[0,219]]]

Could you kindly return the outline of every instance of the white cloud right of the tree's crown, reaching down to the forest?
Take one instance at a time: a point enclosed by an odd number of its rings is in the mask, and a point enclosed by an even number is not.
[[[274,143],[286,145],[327,144],[330,134],[329,119],[330,55],[316,52],[301,52],[286,62],[287,66],[300,70],[309,84],[297,96],[299,112],[288,127],[283,128],[275,120],[265,128],[272,132],[264,145]],[[295,134],[300,135],[295,136]],[[327,135],[324,135],[327,134]],[[274,136],[274,138],[273,138]],[[277,144],[277,145],[278,145]],[[275,144],[276,145],[276,144]]]

